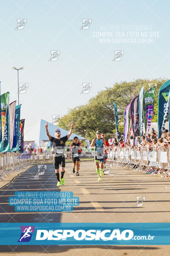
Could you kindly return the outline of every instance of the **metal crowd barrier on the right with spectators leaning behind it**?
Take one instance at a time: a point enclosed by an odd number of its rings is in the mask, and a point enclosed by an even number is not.
[[[133,169],[144,174],[170,177],[170,146],[156,149],[151,147],[120,148],[115,146],[108,150],[105,173],[109,173],[112,166]]]

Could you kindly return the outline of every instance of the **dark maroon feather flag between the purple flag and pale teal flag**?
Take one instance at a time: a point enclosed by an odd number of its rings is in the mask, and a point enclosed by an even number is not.
[[[139,95],[130,103],[130,120],[134,137],[139,135]]]

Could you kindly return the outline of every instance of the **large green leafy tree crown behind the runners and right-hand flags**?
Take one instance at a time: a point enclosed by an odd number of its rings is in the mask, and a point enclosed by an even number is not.
[[[131,82],[122,81],[115,83],[113,87],[106,87],[91,98],[85,105],[77,106],[68,111],[59,121],[59,126],[69,130],[71,121],[74,122],[74,133],[85,138],[93,139],[96,130],[100,129],[105,133],[106,139],[109,134],[116,131],[113,102],[116,102],[119,115],[123,115],[125,107],[137,96],[142,86],[144,91],[149,89],[149,83],[156,83],[155,106],[153,122],[157,121],[158,93],[161,85],[167,79],[136,79]],[[123,119],[122,119],[123,120]],[[123,133],[123,125],[120,125],[120,132]]]

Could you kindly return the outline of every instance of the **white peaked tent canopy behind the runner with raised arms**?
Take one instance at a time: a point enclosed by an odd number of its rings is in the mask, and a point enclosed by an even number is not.
[[[35,125],[31,126],[28,130],[24,131],[24,141],[40,141],[40,140],[48,140],[46,130],[45,130],[45,124],[47,121],[41,119],[39,122],[37,122]],[[51,136],[54,136],[55,130],[59,128],[61,131],[61,137],[64,137],[68,134],[68,131],[65,129],[62,129],[58,127],[57,125],[52,125],[50,122],[48,122],[48,131],[51,134]],[[73,140],[74,136],[77,136],[79,140],[87,140],[86,138],[79,136],[77,134],[71,134],[69,140]]]

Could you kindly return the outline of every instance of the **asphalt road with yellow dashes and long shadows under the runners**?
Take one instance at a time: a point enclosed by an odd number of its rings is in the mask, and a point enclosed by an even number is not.
[[[0,222],[170,222],[170,181],[140,172],[113,168],[98,182],[94,162],[82,162],[80,176],[66,164],[65,185],[57,187],[52,164],[35,178],[37,166],[0,189]],[[79,197],[73,212],[15,212],[8,197],[15,191],[72,191]],[[136,197],[145,198],[136,207]],[[170,246],[0,246],[1,255],[170,255]],[[28,253],[29,252],[29,253]]]

